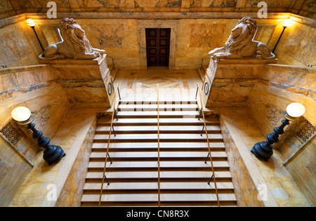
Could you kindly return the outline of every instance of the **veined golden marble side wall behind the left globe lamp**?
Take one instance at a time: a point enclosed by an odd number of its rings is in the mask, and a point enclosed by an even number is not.
[[[46,65],[0,70],[0,128],[11,121],[11,111],[28,107],[35,116],[34,123],[44,136],[50,138],[57,130],[69,108],[65,93]],[[56,93],[58,91],[58,93]],[[26,175],[33,168],[33,159],[41,149],[24,133],[15,146],[0,138],[1,206],[8,206]],[[9,189],[7,189],[10,187]]]

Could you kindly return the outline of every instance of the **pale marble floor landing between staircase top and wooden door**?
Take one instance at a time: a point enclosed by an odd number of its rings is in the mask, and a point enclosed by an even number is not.
[[[194,100],[197,83],[202,85],[197,70],[169,70],[148,67],[147,70],[119,70],[114,86],[119,84],[121,100]]]

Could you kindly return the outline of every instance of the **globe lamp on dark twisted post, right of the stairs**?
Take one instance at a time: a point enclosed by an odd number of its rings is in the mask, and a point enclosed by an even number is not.
[[[274,128],[274,133],[268,134],[267,140],[257,142],[251,149],[251,153],[253,153],[258,159],[268,161],[273,154],[272,144],[279,141],[279,135],[284,133],[284,127],[289,125],[289,121],[297,121],[304,113],[305,107],[302,104],[298,102],[289,104],[287,106],[287,112],[282,113],[282,116],[285,118],[282,120],[282,125]]]

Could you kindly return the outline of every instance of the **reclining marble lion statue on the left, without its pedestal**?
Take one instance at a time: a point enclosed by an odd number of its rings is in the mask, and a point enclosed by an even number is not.
[[[39,55],[41,60],[55,60],[62,58],[94,59],[103,55],[105,50],[92,48],[86,38],[86,32],[73,18],[62,18],[60,34],[63,41],[53,43]]]

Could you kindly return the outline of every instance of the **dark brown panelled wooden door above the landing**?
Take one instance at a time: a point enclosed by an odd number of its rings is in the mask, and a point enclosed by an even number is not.
[[[147,28],[147,66],[169,66],[170,28]]]

